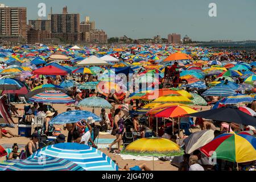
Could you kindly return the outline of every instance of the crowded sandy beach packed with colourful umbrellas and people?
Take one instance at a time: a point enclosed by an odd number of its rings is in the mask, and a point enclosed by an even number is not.
[[[2,171],[255,171],[254,51],[38,44],[0,52]]]

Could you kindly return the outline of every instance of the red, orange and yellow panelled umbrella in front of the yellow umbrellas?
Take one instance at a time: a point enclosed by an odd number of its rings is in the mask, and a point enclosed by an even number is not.
[[[155,117],[163,118],[176,118],[182,117],[185,114],[196,113],[197,111],[187,106],[172,106],[168,107],[159,113],[155,114]]]

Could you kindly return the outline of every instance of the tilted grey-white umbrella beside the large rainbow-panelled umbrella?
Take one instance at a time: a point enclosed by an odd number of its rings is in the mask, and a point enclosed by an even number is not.
[[[201,130],[192,133],[183,140],[185,143],[186,154],[192,154],[193,151],[203,147],[214,138],[213,130]]]

